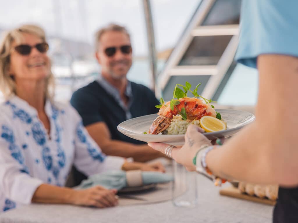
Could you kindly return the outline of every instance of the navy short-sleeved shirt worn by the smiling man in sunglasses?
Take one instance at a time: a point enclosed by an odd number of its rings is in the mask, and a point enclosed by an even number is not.
[[[111,139],[144,144],[117,130],[117,125],[125,120],[157,113],[159,104],[154,93],[142,84],[128,81],[125,90],[128,106],[120,98],[119,91],[103,77],[78,89],[70,100],[72,106],[79,112],[84,126],[104,122],[111,133]]]

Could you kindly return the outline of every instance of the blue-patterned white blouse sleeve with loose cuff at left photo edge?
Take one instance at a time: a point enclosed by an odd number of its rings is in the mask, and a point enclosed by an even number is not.
[[[30,176],[24,155],[15,142],[13,128],[0,120],[0,190],[7,199],[30,204],[42,180]]]

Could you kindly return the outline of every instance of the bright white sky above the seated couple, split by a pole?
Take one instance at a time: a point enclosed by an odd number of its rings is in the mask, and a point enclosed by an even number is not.
[[[201,0],[151,0],[156,48],[172,48]],[[115,22],[131,32],[135,55],[148,52],[142,0],[0,0],[0,29],[41,25],[48,35],[93,44],[94,32]]]

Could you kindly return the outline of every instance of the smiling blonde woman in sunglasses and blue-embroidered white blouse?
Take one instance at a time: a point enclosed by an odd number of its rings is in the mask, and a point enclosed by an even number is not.
[[[24,25],[0,44],[0,211],[31,202],[117,205],[115,190],[63,185],[72,164],[86,175],[105,169],[163,171],[159,164],[105,156],[71,106],[53,101],[53,74],[43,29]]]

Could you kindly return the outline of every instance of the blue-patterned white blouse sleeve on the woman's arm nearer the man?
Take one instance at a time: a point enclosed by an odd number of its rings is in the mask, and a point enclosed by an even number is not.
[[[75,157],[74,165],[87,176],[106,170],[121,169],[124,158],[106,156],[89,135],[77,111],[73,109],[75,122]]]

